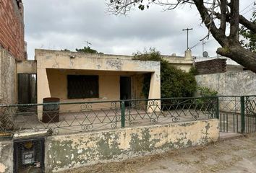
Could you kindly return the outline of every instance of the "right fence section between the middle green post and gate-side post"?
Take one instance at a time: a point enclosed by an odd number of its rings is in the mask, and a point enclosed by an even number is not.
[[[210,119],[218,116],[218,98],[174,98],[126,101],[126,125]],[[125,104],[124,104],[125,105]]]

